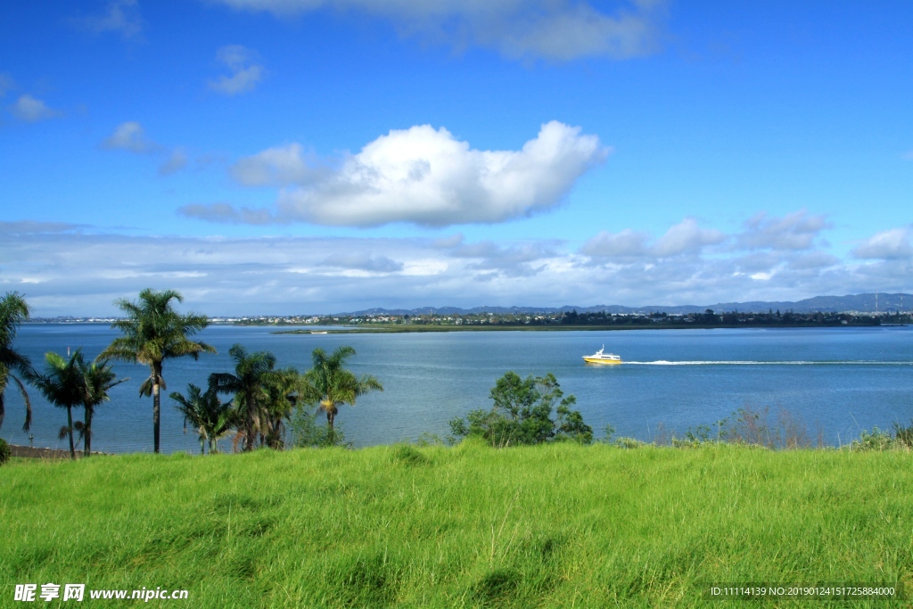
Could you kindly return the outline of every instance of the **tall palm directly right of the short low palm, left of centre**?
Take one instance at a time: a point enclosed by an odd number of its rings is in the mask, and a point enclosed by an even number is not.
[[[247,353],[240,344],[228,350],[235,361],[235,373],[212,373],[209,386],[220,394],[234,394],[235,407],[244,425],[246,451],[253,450],[257,432],[263,431],[260,415],[269,401],[269,383],[276,365],[276,356],[270,352]]]

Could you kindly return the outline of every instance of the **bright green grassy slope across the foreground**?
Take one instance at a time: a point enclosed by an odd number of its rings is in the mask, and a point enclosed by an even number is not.
[[[471,444],[19,461],[0,467],[0,606],[47,582],[186,588],[194,607],[723,607],[699,583],[909,587],[911,465]]]

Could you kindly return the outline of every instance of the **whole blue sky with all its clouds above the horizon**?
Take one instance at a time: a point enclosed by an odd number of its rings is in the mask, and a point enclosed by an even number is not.
[[[913,290],[908,2],[0,5],[0,294],[109,315]]]

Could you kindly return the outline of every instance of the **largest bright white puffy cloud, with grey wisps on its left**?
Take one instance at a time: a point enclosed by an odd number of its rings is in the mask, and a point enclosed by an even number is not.
[[[325,226],[493,224],[559,205],[608,149],[594,135],[558,121],[519,151],[479,151],[444,128],[390,131],[322,170],[294,144],[237,163],[242,184],[290,184],[278,197],[275,222]],[[187,206],[181,213],[211,221],[245,221],[252,210]]]

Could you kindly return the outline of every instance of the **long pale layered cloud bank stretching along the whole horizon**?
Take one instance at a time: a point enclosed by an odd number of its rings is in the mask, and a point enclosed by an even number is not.
[[[759,219],[762,218],[762,219]],[[757,238],[759,226],[765,234]],[[44,315],[111,314],[113,299],[175,288],[210,315],[372,307],[708,304],[908,289],[913,226],[869,236],[852,260],[827,253],[823,216],[756,215],[723,233],[687,217],[654,237],[600,232],[582,247],[369,237],[173,237],[98,233],[64,223],[0,222],[0,285]],[[809,238],[798,243],[795,232]],[[481,287],[481,288],[480,288]],[[484,296],[479,297],[479,294]]]

